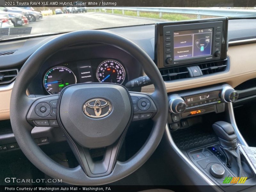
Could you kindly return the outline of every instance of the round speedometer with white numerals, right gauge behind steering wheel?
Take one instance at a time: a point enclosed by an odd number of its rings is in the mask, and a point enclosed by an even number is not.
[[[125,79],[125,70],[119,62],[106,60],[100,63],[96,75],[99,82],[122,84]]]

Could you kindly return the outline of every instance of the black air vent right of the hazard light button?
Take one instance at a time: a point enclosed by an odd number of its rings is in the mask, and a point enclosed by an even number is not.
[[[198,66],[200,67],[203,75],[222,72],[227,68],[227,64],[223,62],[204,63],[199,64]]]

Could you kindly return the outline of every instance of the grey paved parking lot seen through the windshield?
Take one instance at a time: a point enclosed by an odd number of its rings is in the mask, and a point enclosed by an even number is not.
[[[42,20],[31,22],[27,26],[32,27],[31,34],[36,34],[143,25],[155,23],[157,21],[160,20],[102,12],[87,12],[44,16]]]

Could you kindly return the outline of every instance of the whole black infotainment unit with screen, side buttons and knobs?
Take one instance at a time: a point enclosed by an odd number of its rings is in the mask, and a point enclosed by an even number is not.
[[[158,68],[227,58],[228,18],[159,22],[155,26]]]

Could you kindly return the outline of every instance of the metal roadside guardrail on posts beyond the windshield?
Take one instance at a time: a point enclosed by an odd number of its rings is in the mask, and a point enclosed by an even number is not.
[[[240,9],[225,9],[225,8],[194,8],[194,7],[87,7],[87,9],[99,9],[101,11],[122,10],[135,11],[137,16],[140,16],[140,11],[143,12],[159,12],[159,18],[162,18],[163,13],[182,13],[182,14],[196,14],[197,19],[201,19],[201,15],[207,16],[227,16],[227,17],[256,17],[256,10],[240,10]]]

